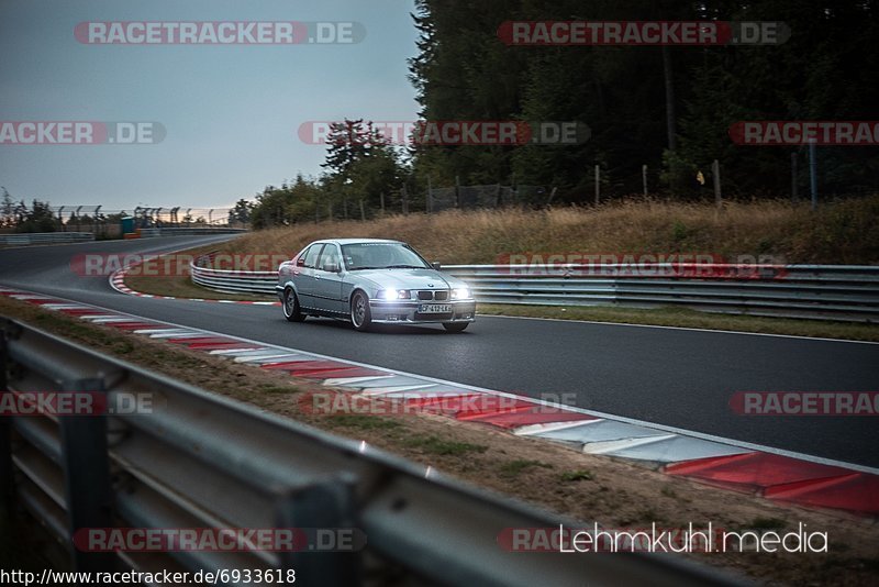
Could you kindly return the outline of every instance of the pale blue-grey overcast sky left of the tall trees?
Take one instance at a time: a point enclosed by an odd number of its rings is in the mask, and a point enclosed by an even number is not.
[[[0,0],[0,120],[155,121],[157,144],[0,144],[0,186],[60,204],[223,207],[318,175],[303,122],[414,120],[413,0]],[[96,21],[348,21],[357,44],[109,45]]]

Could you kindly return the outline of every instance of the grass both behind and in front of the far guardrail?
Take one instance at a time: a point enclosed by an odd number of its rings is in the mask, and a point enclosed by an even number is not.
[[[872,265],[879,263],[878,220],[879,196],[826,204],[817,212],[783,201],[727,202],[720,212],[710,204],[626,201],[598,209],[448,211],[299,224],[248,233],[224,243],[221,251],[292,256],[315,239],[372,236],[409,242],[429,259],[444,264],[500,263],[504,255],[523,253],[710,253],[727,259],[774,255],[788,263]],[[209,291],[186,276],[130,277],[126,283],[148,294],[255,299]],[[715,315],[678,308],[483,304],[480,313],[879,340],[878,329],[870,325]]]

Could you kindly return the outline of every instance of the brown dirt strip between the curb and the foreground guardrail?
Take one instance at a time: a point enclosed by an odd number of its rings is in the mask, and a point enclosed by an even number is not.
[[[779,585],[879,583],[879,524],[842,512],[813,511],[666,476],[628,462],[586,455],[560,444],[514,436],[435,414],[325,417],[305,413],[300,398],[318,386],[165,342],[115,331],[0,297],[0,314],[86,344],[176,379],[260,409],[364,440],[490,491],[611,528],[692,522],[727,530],[777,528],[828,534],[825,554],[712,553],[703,563]],[[320,387],[321,390],[326,390]],[[580,554],[571,556],[613,556]]]

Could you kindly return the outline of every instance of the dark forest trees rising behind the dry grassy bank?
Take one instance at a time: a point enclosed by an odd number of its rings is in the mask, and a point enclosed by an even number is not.
[[[334,125],[324,174],[269,186],[244,207],[255,226],[423,209],[427,185],[501,184],[557,189],[554,202],[602,196],[712,197],[720,162],[725,197],[809,190],[806,152],[743,146],[730,126],[748,120],[876,120],[879,26],[874,0],[418,0],[418,52],[409,60],[426,121],[571,121],[591,130],[565,146],[390,145],[368,121]],[[782,21],[779,45],[510,46],[505,21]],[[797,167],[793,167],[794,162]],[[702,171],[702,174],[700,174]],[[792,171],[795,175],[792,177]],[[871,193],[879,148],[817,148],[821,192]],[[363,212],[361,212],[363,210]]]

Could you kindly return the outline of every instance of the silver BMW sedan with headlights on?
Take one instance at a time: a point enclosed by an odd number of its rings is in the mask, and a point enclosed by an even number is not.
[[[315,241],[278,268],[283,315],[371,324],[443,324],[460,332],[476,319],[476,300],[460,279],[439,272],[411,246],[381,239]]]

